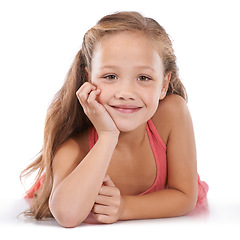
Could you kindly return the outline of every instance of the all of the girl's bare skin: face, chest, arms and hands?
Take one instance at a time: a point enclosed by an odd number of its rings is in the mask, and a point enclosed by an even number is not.
[[[86,72],[89,81],[77,97],[98,141],[89,151],[86,132],[57,151],[49,200],[55,219],[75,227],[84,220],[113,223],[191,211],[197,200],[192,121],[181,97],[166,96],[171,73],[164,74],[157,50],[140,33],[106,36]],[[150,118],[167,145],[168,189],[138,196],[156,177],[146,133]]]

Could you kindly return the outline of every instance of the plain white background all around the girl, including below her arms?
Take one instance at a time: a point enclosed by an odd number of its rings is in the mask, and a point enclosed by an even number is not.
[[[31,231],[100,238],[187,237],[192,230],[199,238],[240,236],[239,8],[237,0],[0,1],[0,228],[24,231],[25,238]],[[189,96],[198,172],[210,187],[209,216],[75,230],[58,228],[55,222],[17,220],[15,215],[26,207],[19,174],[42,147],[46,110],[83,34],[104,15],[122,10],[154,18],[173,40]]]

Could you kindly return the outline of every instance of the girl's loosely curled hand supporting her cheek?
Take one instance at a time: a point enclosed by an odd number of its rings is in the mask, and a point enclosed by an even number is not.
[[[97,96],[100,95],[100,89],[86,82],[79,88],[76,95],[85,114],[96,128],[99,137],[102,133],[115,133],[117,136],[119,135],[119,130],[113,119],[103,105],[96,100]]]

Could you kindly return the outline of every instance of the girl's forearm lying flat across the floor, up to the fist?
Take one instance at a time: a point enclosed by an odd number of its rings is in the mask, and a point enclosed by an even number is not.
[[[182,216],[196,205],[189,197],[176,189],[166,189],[142,196],[123,196],[124,210],[120,220],[149,219]]]

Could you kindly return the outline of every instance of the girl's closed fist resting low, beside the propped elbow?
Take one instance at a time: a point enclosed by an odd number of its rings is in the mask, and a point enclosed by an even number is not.
[[[119,189],[107,175],[92,209],[95,219],[102,223],[114,223],[120,218],[123,205]]]

